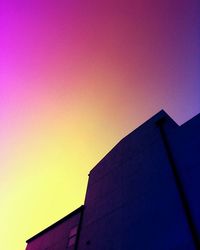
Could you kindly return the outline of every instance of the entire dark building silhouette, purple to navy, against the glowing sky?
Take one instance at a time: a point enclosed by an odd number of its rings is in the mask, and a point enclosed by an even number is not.
[[[200,249],[200,114],[178,126],[160,111],[89,173],[85,204],[27,250]]]

